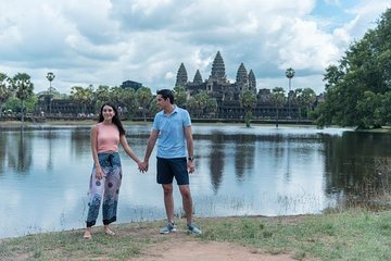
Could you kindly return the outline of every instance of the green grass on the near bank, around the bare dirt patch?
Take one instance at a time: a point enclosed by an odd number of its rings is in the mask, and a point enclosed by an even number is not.
[[[297,260],[391,260],[391,211],[354,209],[321,215],[198,219],[204,234],[195,240],[229,241],[252,251],[289,253]],[[179,226],[185,224],[179,221]],[[0,241],[0,260],[131,260],[154,244],[162,222],[114,226],[115,237],[96,228],[92,240],[83,231],[29,235]],[[194,240],[184,235],[180,240]]]

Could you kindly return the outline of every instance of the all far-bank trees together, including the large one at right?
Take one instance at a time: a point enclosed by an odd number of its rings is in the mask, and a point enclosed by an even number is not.
[[[49,78],[48,78],[49,79]],[[53,77],[51,77],[53,79]],[[297,88],[286,94],[282,87],[272,89],[270,102],[276,109],[278,125],[279,110],[287,100],[299,108],[299,117],[314,119],[318,126],[354,126],[376,128],[391,125],[391,9],[377,21],[377,26],[369,29],[361,40],[351,44],[338,64],[331,64],[324,74],[325,102],[313,110],[316,100],[311,88]],[[51,84],[51,82],[50,82]],[[217,101],[206,91],[200,91],[188,98],[184,87],[174,88],[176,103],[187,108],[192,115],[202,117],[217,111]],[[131,116],[141,111],[142,117],[153,115],[159,109],[151,89],[99,86],[72,87],[71,95],[62,95],[50,87],[50,91],[34,94],[34,84],[26,73],[13,77],[0,73],[0,115],[11,110],[33,112],[40,95],[50,95],[53,99],[71,99],[80,104],[94,104],[96,109],[104,101],[112,101],[124,108],[123,113]],[[240,104],[244,109],[245,124],[250,126],[256,94],[243,91]]]

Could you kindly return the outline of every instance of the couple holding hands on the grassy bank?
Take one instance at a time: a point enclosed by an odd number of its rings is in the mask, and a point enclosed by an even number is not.
[[[117,109],[110,103],[102,105],[98,124],[92,126],[90,135],[93,167],[89,185],[89,208],[84,238],[91,239],[92,226],[97,222],[101,204],[104,233],[115,235],[109,225],[116,221],[122,182],[118,145],[122,145],[125,152],[138,164],[141,172],[147,172],[149,158],[156,141],[156,182],[163,188],[167,215],[167,224],[160,229],[160,233],[169,234],[176,231],[173,197],[173,181],[175,177],[182,197],[187,229],[194,235],[202,234],[201,229],[192,222],[189,173],[194,172],[194,162],[190,115],[187,110],[175,105],[174,94],[169,89],[159,90],[156,102],[162,111],[156,113],[153,120],[143,162],[139,160],[126,140],[125,129]]]

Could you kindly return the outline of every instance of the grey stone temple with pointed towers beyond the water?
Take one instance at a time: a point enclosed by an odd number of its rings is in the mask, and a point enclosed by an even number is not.
[[[243,63],[239,65],[236,82],[227,80],[225,64],[222,54],[217,51],[212,64],[212,73],[207,79],[202,80],[199,70],[197,70],[192,82],[188,82],[185,64],[181,63],[177,73],[175,86],[185,87],[188,97],[205,90],[211,98],[217,101],[218,117],[240,119],[244,115],[244,109],[240,105],[240,95],[250,90],[256,95],[257,104],[254,109],[256,117],[275,117],[276,109],[270,102],[270,89],[260,89],[256,94],[256,79],[252,70],[247,72]],[[292,115],[298,113],[295,107],[291,107]],[[280,109],[280,116],[288,116],[288,108]]]

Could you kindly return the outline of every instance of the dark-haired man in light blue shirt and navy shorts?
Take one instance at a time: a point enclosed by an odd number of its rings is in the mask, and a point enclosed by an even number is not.
[[[160,233],[176,232],[174,223],[173,179],[175,177],[182,197],[188,232],[201,235],[202,232],[192,222],[192,199],[189,187],[189,173],[194,172],[193,140],[189,112],[174,104],[174,94],[169,89],[157,91],[157,112],[148,140],[146,158],[140,170],[148,170],[149,158],[157,140],[156,182],[162,184],[167,225]],[[187,154],[186,154],[187,149]]]

